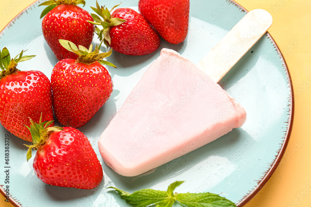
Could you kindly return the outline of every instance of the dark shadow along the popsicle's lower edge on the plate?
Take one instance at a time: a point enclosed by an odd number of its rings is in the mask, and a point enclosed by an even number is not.
[[[234,149],[237,148],[239,143],[243,142],[244,139],[251,139],[251,137],[242,128],[235,128],[230,133],[225,134],[215,141],[194,151],[190,151],[187,154],[142,175],[124,177],[118,175],[107,165],[103,164],[104,173],[106,173],[111,180],[117,181],[115,182],[116,187],[120,187],[118,186],[119,183],[123,188],[125,186],[128,191],[135,191],[137,189],[153,186],[157,183],[168,180],[169,178],[178,177],[180,174],[186,173],[187,171],[194,170],[196,166],[200,166],[200,163],[202,162],[207,162],[212,156],[221,159],[223,158],[230,162],[231,158],[235,159],[233,158]]]

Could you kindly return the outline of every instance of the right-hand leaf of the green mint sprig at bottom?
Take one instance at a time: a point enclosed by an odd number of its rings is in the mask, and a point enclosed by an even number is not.
[[[236,207],[230,200],[213,193],[179,193],[176,197],[188,207]]]

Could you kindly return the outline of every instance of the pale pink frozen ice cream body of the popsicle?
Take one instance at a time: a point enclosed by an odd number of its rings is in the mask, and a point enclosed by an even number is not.
[[[254,35],[257,40],[268,28]],[[215,48],[198,64],[201,69]],[[104,162],[120,175],[136,176],[241,127],[246,112],[216,83],[222,76],[211,74],[213,80],[179,53],[162,49],[100,136]]]

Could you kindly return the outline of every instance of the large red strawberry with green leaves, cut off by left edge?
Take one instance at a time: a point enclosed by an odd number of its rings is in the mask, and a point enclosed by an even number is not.
[[[0,58],[0,122],[4,128],[28,142],[32,142],[28,117],[39,121],[43,113],[44,120],[53,119],[51,83],[40,71],[19,71],[16,66],[21,61],[34,56],[23,56],[14,59],[6,47]],[[11,60],[10,60],[11,59]]]

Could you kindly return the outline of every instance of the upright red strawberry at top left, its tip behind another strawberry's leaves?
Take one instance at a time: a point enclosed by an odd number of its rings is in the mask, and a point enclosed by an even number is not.
[[[77,58],[73,52],[65,50],[58,39],[66,39],[77,45],[89,48],[94,36],[94,25],[88,23],[93,21],[91,14],[76,6],[85,5],[84,0],[52,0],[43,2],[46,7],[41,18],[44,39],[60,61],[65,58]]]

